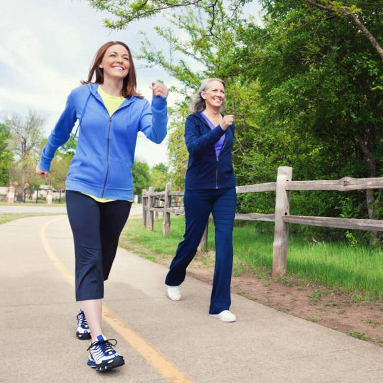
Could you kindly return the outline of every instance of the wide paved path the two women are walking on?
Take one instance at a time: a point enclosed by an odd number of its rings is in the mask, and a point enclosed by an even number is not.
[[[208,315],[193,278],[165,294],[166,268],[119,249],[105,291],[104,333],[126,365],[99,374],[75,337],[74,254],[67,216],[0,225],[2,383],[383,382],[383,349],[232,296],[237,322]]]

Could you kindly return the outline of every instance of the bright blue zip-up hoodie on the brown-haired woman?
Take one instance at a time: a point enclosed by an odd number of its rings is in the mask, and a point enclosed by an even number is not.
[[[159,144],[166,137],[167,102],[153,96],[126,98],[109,117],[97,92],[99,84],[74,89],[42,150],[39,168],[49,171],[56,149],[68,141],[79,119],[80,134],[66,189],[95,197],[133,200],[132,166],[137,134]]]

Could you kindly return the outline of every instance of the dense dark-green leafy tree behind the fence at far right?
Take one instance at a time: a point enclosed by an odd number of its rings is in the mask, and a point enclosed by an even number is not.
[[[281,155],[294,167],[294,178],[380,176],[381,59],[341,18],[307,10],[301,2],[263,3],[265,28],[243,29],[233,57],[246,68],[248,81],[258,81],[262,125],[286,134]],[[367,21],[381,39],[381,18]],[[250,68],[249,62],[257,65]],[[320,192],[294,193],[294,214],[381,217],[379,194],[372,190],[348,194],[352,199],[326,193],[325,202]]]

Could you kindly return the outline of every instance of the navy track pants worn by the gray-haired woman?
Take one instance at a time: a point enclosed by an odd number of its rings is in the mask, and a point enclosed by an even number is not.
[[[217,314],[230,307],[230,282],[233,268],[233,223],[237,197],[235,187],[223,189],[185,190],[185,234],[179,243],[170,265],[165,283],[180,285],[186,268],[192,262],[201,241],[210,213],[215,225],[216,262],[210,314]]]

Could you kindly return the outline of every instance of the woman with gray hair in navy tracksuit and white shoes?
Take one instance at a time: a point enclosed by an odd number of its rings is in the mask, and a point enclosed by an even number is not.
[[[216,263],[209,314],[224,322],[235,322],[230,308],[233,265],[232,232],[236,205],[235,176],[231,160],[234,116],[222,115],[225,83],[207,79],[190,104],[185,121],[185,143],[189,160],[185,176],[185,234],[166,276],[167,294],[181,299],[179,285],[193,260],[210,213],[215,224]]]

